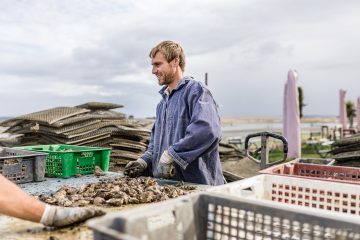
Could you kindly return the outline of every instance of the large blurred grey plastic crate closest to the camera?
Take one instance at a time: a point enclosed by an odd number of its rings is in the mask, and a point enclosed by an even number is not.
[[[194,194],[87,222],[95,240],[360,239],[357,216]]]

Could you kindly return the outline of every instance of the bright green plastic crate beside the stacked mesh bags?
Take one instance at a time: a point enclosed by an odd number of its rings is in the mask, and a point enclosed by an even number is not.
[[[110,148],[53,144],[17,149],[48,153],[45,174],[49,177],[69,178],[77,174],[91,174],[96,165],[105,172],[109,170]]]

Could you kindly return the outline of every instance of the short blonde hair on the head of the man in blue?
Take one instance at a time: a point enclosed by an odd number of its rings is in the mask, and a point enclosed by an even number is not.
[[[185,71],[185,54],[182,47],[173,41],[163,41],[151,49],[149,57],[155,57],[156,53],[164,54],[167,62],[171,62],[175,58],[179,58],[179,66],[181,70]]]

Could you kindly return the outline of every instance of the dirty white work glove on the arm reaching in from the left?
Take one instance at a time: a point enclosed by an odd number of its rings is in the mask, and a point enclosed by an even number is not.
[[[46,205],[40,223],[49,227],[65,227],[104,214],[103,210],[96,208],[64,208]]]

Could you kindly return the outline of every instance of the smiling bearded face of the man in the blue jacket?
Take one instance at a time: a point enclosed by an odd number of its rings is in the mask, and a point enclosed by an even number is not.
[[[157,52],[151,60],[152,73],[157,77],[160,86],[169,85],[175,79],[176,68],[168,63],[161,52]]]

